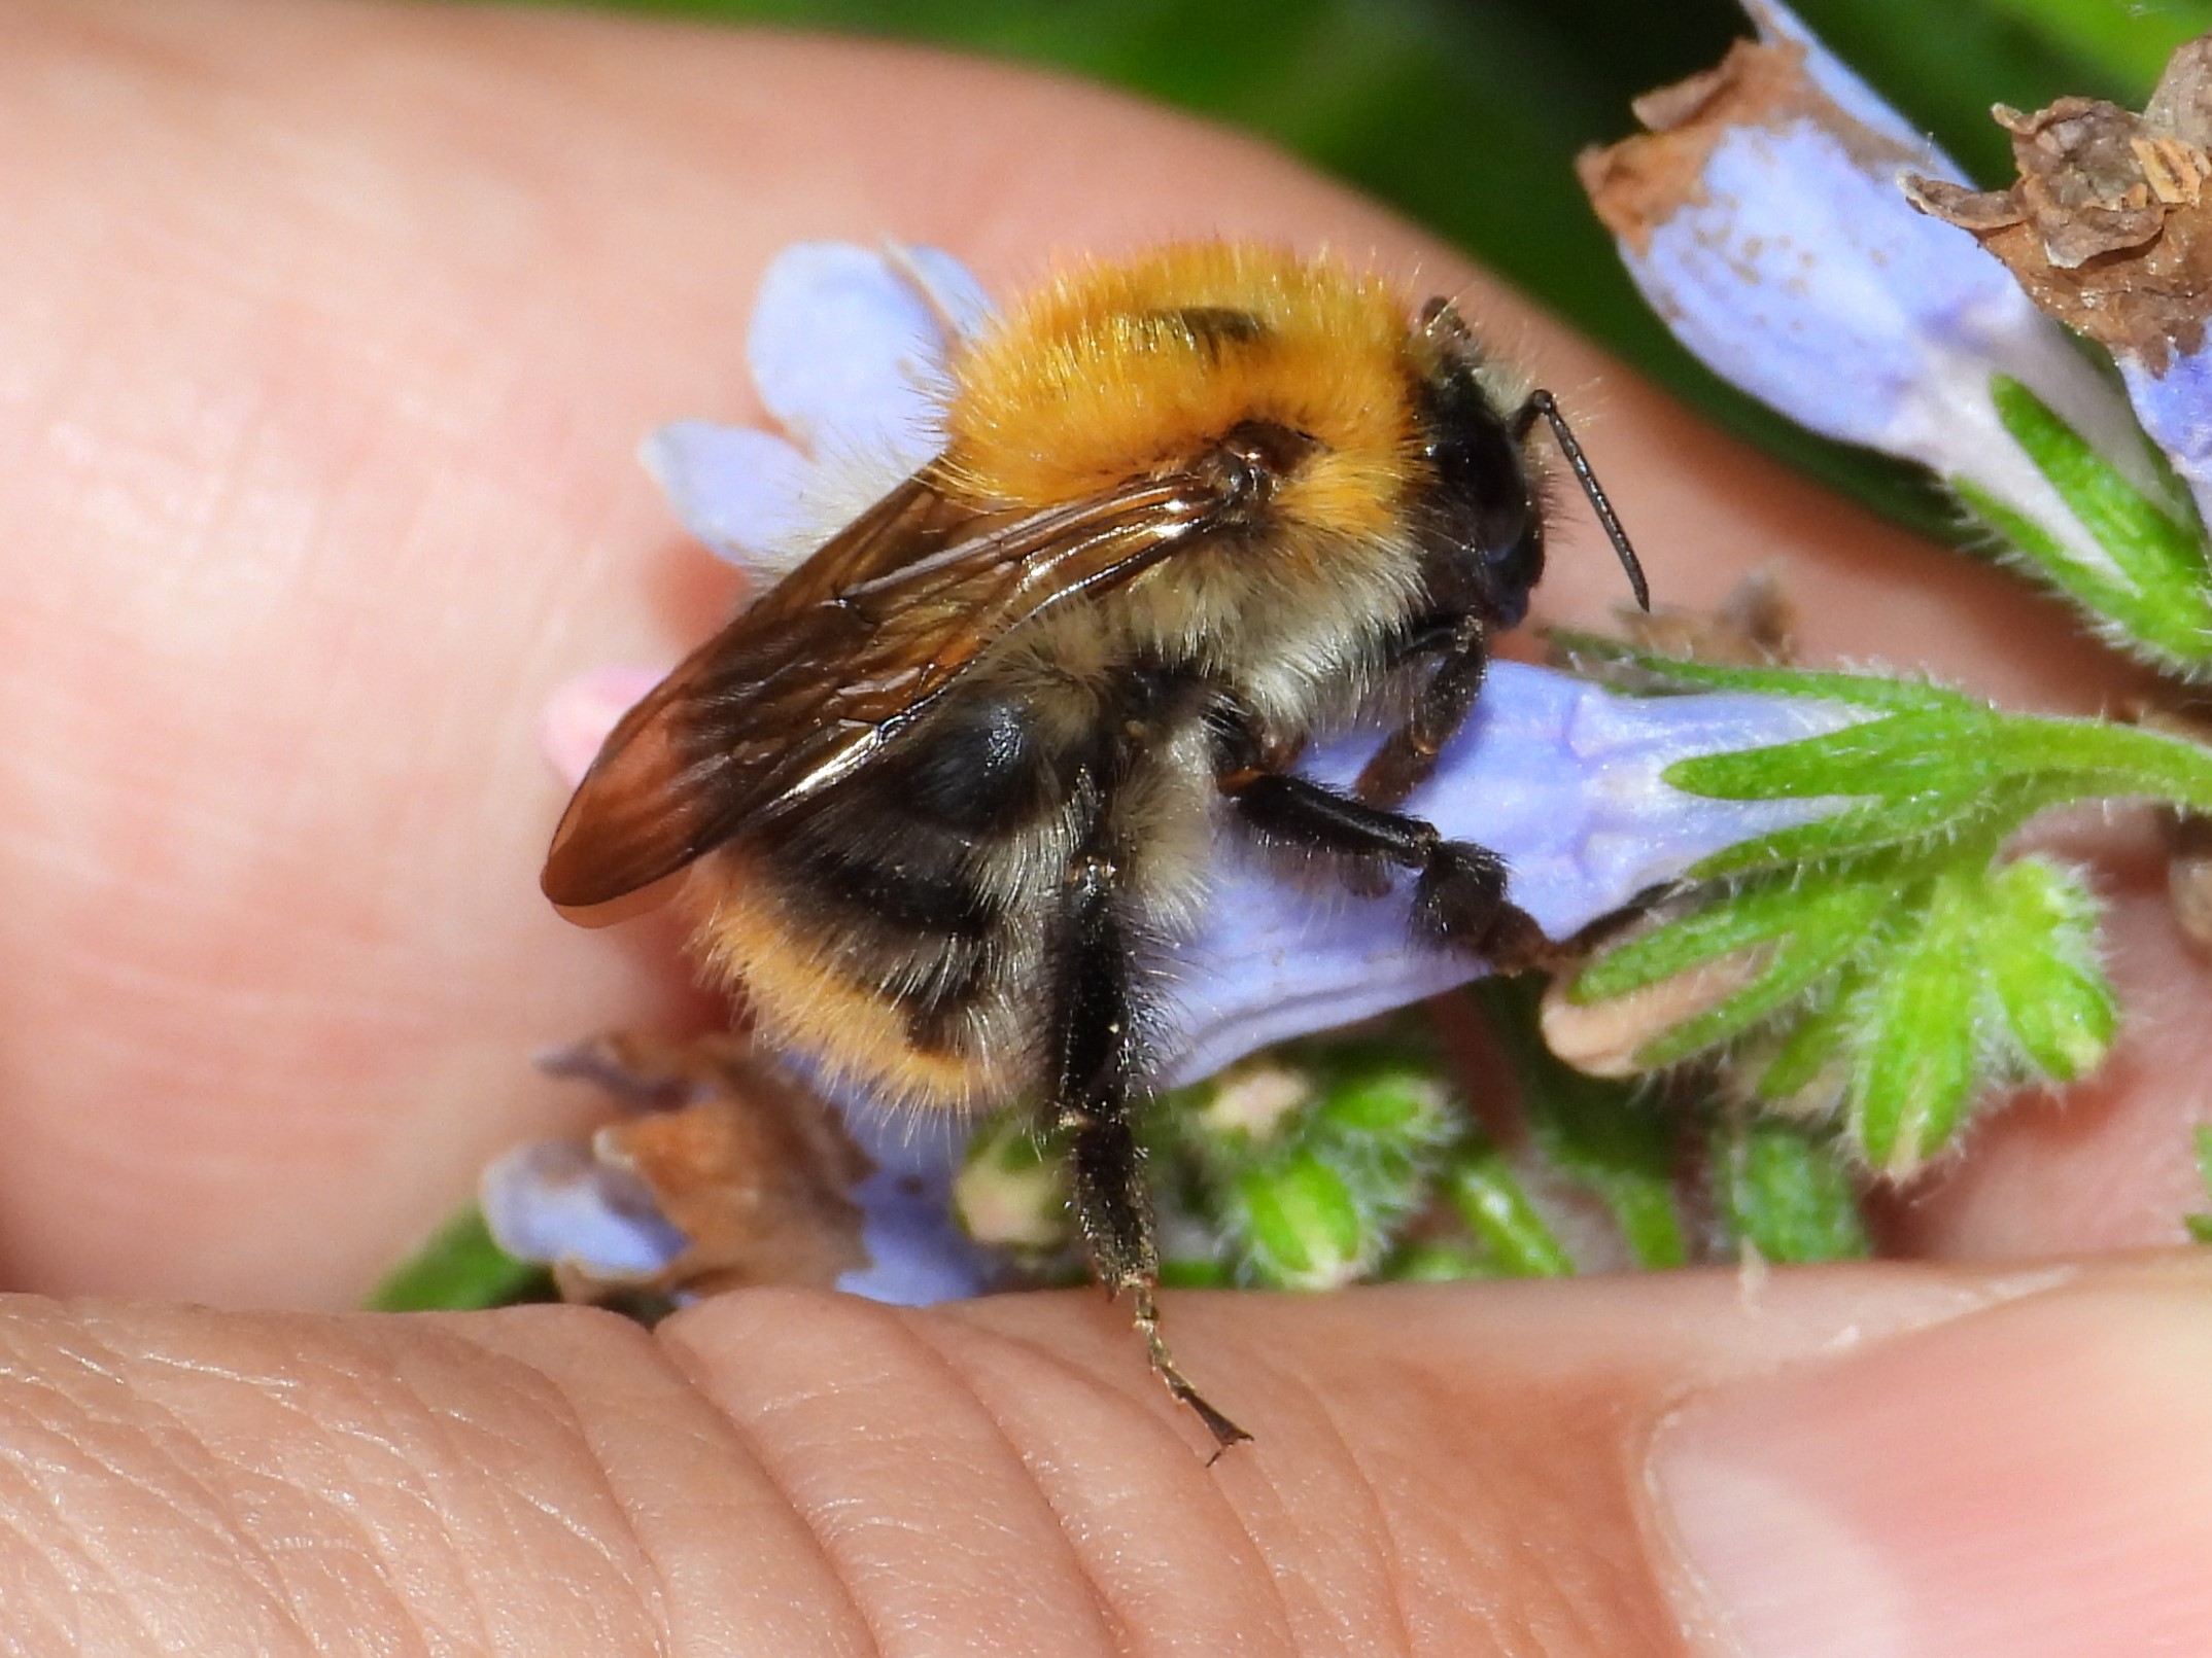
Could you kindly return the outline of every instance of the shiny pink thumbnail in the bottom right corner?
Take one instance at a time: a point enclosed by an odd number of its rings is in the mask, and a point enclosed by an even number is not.
[[[2119,1271],[1690,1402],[1650,1459],[1686,1623],[1747,1658],[2203,1649],[2205,1284]]]

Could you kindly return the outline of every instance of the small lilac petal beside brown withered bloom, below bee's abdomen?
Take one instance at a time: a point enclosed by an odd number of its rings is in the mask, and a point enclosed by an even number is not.
[[[644,1180],[582,1141],[531,1141],[484,1169],[478,1203],[515,1260],[575,1267],[602,1282],[657,1278],[688,1247]]]

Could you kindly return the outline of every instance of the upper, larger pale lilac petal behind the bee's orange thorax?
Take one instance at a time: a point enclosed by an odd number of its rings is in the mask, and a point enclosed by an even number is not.
[[[894,480],[938,451],[945,347],[929,294],[885,254],[836,241],[776,254],[745,340],[761,402],[803,449],[880,455]]]

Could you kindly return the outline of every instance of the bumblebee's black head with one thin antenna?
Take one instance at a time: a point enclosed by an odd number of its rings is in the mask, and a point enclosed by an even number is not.
[[[1431,298],[1420,312],[1413,363],[1413,416],[1433,471],[1413,511],[1422,544],[1440,555],[1440,575],[1451,584],[1433,597],[1500,628],[1528,615],[1528,592],[1544,575],[1544,502],[1526,440],[1544,418],[1613,539],[1637,604],[1648,610],[1637,555],[1551,393],[1531,391],[1517,407],[1500,409],[1482,382],[1482,347],[1444,298]]]

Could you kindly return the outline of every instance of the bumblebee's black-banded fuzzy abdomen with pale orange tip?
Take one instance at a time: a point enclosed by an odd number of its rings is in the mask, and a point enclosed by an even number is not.
[[[1042,1081],[1077,842],[1113,847],[1124,924],[1148,937],[1190,909],[1214,829],[1208,692],[1144,670],[1113,685],[1102,707],[1064,685],[953,699],[712,856],[699,946],[772,1046],[896,1103],[989,1108]]]

